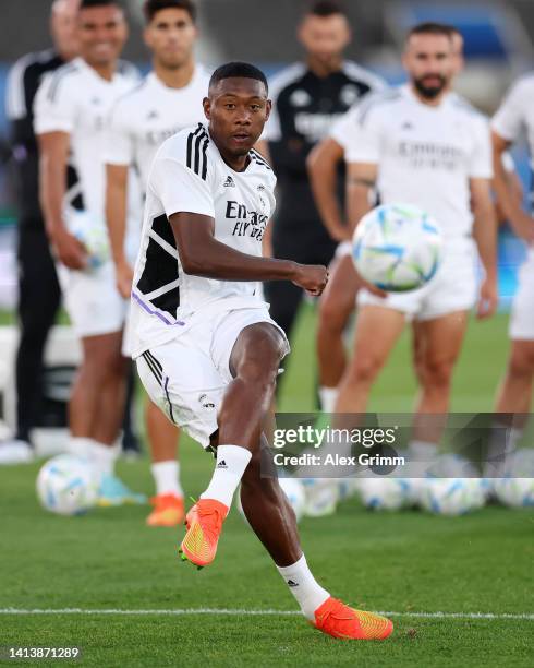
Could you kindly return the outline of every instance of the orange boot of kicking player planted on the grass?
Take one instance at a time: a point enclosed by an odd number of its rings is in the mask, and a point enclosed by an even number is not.
[[[355,610],[331,596],[315,610],[312,624],[343,640],[386,640],[393,632],[393,623],[386,617]]]

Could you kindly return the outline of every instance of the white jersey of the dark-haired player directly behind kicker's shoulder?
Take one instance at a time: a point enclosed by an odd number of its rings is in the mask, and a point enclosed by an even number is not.
[[[199,65],[182,88],[166,86],[150,72],[111,111],[106,163],[135,166],[145,190],[154,156],[163,141],[205,119],[202,102],[208,84],[209,75]]]

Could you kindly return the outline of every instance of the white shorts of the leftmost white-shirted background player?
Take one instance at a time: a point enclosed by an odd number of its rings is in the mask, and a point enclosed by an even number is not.
[[[58,264],[58,276],[63,303],[77,336],[85,338],[122,330],[128,300],[117,289],[112,262],[85,271]]]

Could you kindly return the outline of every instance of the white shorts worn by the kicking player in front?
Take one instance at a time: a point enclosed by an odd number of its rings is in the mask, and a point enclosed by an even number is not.
[[[230,356],[240,333],[258,322],[286,334],[266,308],[244,308],[205,314],[172,341],[155,346],[135,360],[151,401],[203,448],[217,431],[217,414],[227,385],[233,380]]]

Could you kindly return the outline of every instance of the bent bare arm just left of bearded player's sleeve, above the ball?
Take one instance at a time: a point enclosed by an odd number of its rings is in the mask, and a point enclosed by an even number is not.
[[[351,229],[343,222],[337,196],[338,165],[343,159],[343,147],[332,138],[319,142],[307,156],[310,182],[323,224],[336,241],[351,238]]]

